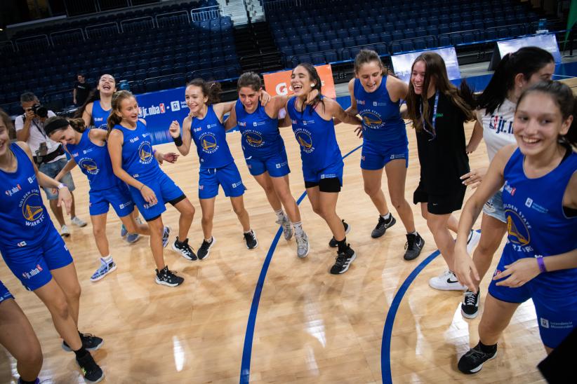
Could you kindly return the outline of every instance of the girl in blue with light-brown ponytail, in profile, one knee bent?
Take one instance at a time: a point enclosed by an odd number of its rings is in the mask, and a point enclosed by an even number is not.
[[[166,211],[166,203],[171,203],[180,212],[178,236],[172,247],[185,259],[196,260],[196,254],[188,245],[188,230],[194,217],[194,207],[159,166],[164,160],[174,163],[178,155],[152,149],[150,132],[138,118],[138,111],[138,103],[131,92],[121,90],[112,97],[112,114],[108,118],[108,151],[112,170],[128,184],[132,201],[148,222],[150,248],[157,265],[157,284],[176,287],[184,279],[168,270],[164,263],[163,247],[170,228],[162,224],[161,214]]]

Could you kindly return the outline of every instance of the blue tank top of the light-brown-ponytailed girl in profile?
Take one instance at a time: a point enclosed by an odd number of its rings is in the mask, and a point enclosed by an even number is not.
[[[134,130],[124,128],[122,125],[114,125],[115,130],[120,130],[124,135],[122,143],[122,169],[135,179],[150,180],[157,177],[162,171],[157,158],[152,151],[150,132],[140,120]]]

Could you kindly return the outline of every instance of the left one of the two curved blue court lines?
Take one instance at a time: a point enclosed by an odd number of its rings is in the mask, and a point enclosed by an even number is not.
[[[362,145],[357,146],[357,148],[353,149],[345,156],[343,156],[343,160],[347,158],[350,154],[357,151],[361,148]],[[305,199],[307,196],[307,192],[303,192],[302,195],[296,200],[296,204],[300,205],[300,203]],[[258,281],[256,282],[256,287],[254,290],[253,295],[253,302],[251,304],[251,312],[248,315],[248,323],[246,324],[246,332],[244,334],[244,347],[242,349],[242,361],[241,361],[241,373],[240,373],[240,381],[241,384],[248,384],[251,378],[251,355],[253,349],[253,337],[254,337],[254,328],[256,323],[256,313],[258,312],[258,303],[260,302],[260,294],[263,293],[263,286],[265,284],[265,278],[267,277],[268,267],[270,265],[270,261],[272,260],[272,254],[274,254],[274,249],[277,248],[277,244],[279,239],[281,238],[282,227],[279,227],[277,234],[274,235],[274,239],[272,239],[272,244],[268,250],[267,256],[265,258],[265,262],[263,263],[263,268],[260,269],[260,275],[258,276]]]

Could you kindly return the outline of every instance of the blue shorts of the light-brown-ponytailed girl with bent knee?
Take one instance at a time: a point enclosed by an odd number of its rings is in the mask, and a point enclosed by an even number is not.
[[[155,174],[154,177],[140,179],[140,182],[152,189],[154,195],[157,196],[157,203],[150,205],[142,197],[142,193],[140,193],[138,189],[133,186],[128,187],[132,196],[132,201],[136,207],[138,207],[140,214],[142,214],[142,217],[144,217],[146,221],[157,219],[164,211],[166,211],[166,207],[164,206],[166,203],[174,205],[186,197],[183,190],[180,189],[175,182],[162,171]]]

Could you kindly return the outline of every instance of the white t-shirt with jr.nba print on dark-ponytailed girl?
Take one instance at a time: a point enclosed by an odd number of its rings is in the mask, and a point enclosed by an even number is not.
[[[483,139],[487,146],[489,161],[493,160],[497,151],[508,144],[515,144],[513,136],[513,119],[517,104],[505,98],[503,104],[492,114],[485,114],[485,109],[477,112],[477,119],[483,125]]]

